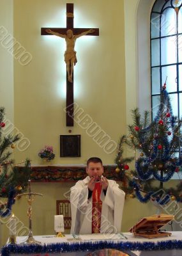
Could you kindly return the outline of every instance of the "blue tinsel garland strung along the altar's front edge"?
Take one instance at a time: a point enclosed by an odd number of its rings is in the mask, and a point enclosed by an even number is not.
[[[113,248],[124,251],[159,251],[182,249],[181,240],[168,240],[154,242],[129,242],[129,241],[96,241],[95,243],[56,243],[56,244],[8,244],[1,250],[2,256],[9,256],[10,253],[63,253],[63,252],[84,252]]]

